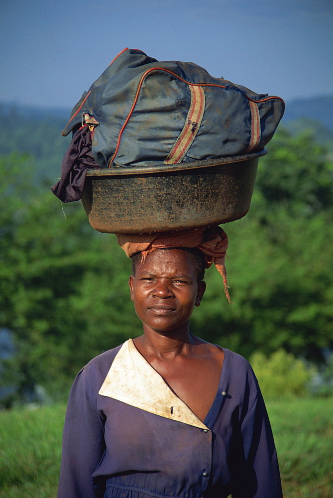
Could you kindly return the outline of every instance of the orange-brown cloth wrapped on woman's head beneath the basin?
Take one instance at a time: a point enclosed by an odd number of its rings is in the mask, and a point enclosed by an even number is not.
[[[199,230],[183,230],[180,232],[163,232],[161,234],[142,234],[142,235],[117,235],[118,244],[128,257],[132,257],[137,252],[141,252],[142,260],[156,249],[171,248],[198,248],[206,258],[206,268],[213,263],[219,273],[221,273],[224,282],[224,292],[227,300],[230,296],[226,284],[226,269],[224,258],[228,247],[228,237],[224,230],[218,225]]]

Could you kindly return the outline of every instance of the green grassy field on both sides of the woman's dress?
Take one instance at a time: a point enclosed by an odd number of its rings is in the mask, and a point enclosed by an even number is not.
[[[333,497],[333,399],[270,401],[285,498]],[[65,406],[0,412],[0,497],[55,498]],[[267,497],[268,498],[268,497]]]

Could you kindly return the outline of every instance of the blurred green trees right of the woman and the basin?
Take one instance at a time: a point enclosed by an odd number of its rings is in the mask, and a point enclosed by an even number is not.
[[[224,227],[234,304],[209,270],[193,330],[247,358],[284,348],[322,362],[333,347],[332,164],[311,137],[284,130],[264,159],[248,215]]]

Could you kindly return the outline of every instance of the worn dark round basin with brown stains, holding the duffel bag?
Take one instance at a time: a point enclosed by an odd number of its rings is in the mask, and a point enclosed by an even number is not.
[[[238,220],[249,210],[259,157],[89,169],[82,203],[104,233],[143,234]]]

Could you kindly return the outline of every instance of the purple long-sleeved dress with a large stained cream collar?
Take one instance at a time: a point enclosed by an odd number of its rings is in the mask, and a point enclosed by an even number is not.
[[[58,498],[281,498],[257,380],[223,351],[204,423],[131,339],[94,358],[70,393]]]

